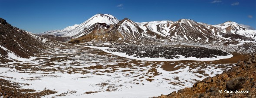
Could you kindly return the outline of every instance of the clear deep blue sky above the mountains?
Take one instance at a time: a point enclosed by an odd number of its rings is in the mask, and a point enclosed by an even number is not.
[[[119,20],[225,21],[256,28],[256,0],[0,0],[0,18],[33,33],[81,24],[97,13]]]

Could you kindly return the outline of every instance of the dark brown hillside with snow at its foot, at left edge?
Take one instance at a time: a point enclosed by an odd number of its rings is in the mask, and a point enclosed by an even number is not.
[[[13,27],[0,18],[0,62],[33,59],[36,53],[45,49],[48,42],[46,38]]]

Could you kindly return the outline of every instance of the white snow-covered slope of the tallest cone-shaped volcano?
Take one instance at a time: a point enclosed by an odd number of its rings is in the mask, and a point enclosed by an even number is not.
[[[83,32],[86,28],[91,27],[95,23],[105,23],[107,25],[114,25],[114,24],[117,24],[118,22],[119,22],[119,20],[112,15],[96,14],[96,15],[92,16],[91,18],[89,18],[87,21],[85,21],[82,24],[80,24],[79,26],[77,26],[72,31],[69,31],[67,34],[64,34],[63,36],[72,37],[76,34]]]

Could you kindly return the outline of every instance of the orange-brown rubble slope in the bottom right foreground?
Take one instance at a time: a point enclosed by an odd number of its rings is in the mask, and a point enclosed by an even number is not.
[[[238,61],[230,70],[195,83],[191,88],[180,89],[154,98],[255,98],[255,68],[256,55],[253,55]]]

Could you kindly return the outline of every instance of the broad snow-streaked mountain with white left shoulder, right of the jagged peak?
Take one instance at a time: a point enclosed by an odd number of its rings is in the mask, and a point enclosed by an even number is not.
[[[204,25],[201,25],[190,19],[181,19],[179,21],[153,21],[143,23],[141,28],[144,31],[152,31],[162,37],[169,37],[172,40],[185,40],[197,42],[219,41],[214,35],[215,31],[210,31]],[[213,30],[217,28],[211,27]],[[220,32],[220,31],[218,31]]]

